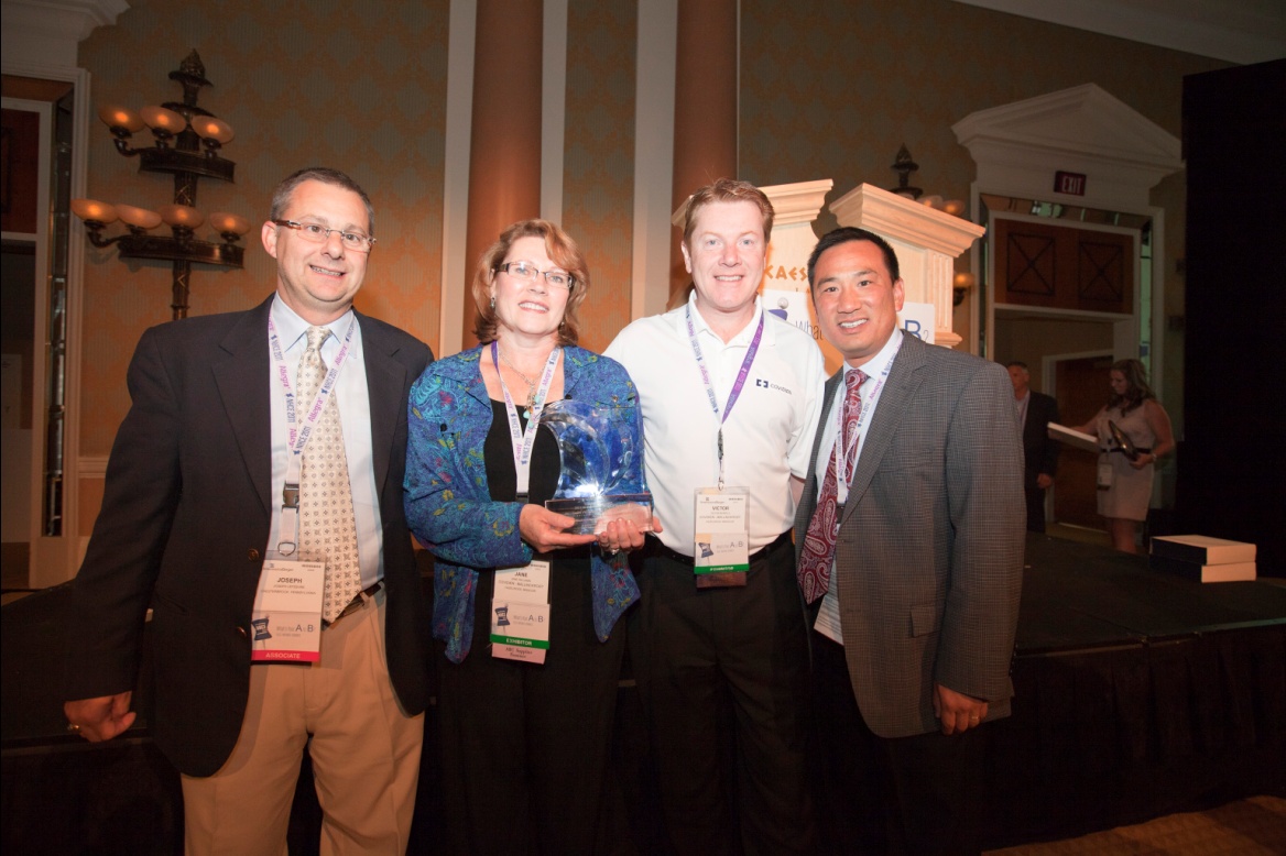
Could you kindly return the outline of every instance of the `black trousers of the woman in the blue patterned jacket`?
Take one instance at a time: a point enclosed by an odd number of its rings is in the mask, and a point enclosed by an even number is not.
[[[473,643],[440,675],[444,852],[504,856],[607,853],[628,844],[620,783],[610,772],[625,625],[594,635],[589,573],[550,573],[543,666],[491,657],[494,576],[478,577]]]

